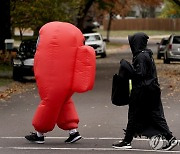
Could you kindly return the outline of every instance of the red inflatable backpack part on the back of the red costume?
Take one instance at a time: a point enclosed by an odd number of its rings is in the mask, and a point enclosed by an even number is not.
[[[79,47],[76,55],[72,90],[85,92],[91,90],[95,80],[96,56],[90,46]]]

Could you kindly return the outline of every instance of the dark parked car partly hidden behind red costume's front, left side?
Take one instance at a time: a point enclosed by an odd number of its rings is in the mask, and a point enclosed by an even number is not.
[[[12,60],[13,79],[21,81],[24,76],[34,76],[34,54],[36,52],[37,40],[23,40]]]

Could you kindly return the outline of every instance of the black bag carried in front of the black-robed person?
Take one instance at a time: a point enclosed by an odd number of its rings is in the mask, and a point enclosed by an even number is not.
[[[116,106],[129,104],[129,79],[113,75],[111,101]]]

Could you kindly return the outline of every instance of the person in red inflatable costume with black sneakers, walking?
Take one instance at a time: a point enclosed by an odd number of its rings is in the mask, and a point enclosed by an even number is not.
[[[69,130],[66,143],[81,139],[71,97],[93,88],[96,67],[95,51],[84,41],[81,31],[70,23],[54,21],[40,29],[34,73],[41,102],[32,121],[37,132],[25,136],[27,140],[44,143],[44,133],[55,125]]]

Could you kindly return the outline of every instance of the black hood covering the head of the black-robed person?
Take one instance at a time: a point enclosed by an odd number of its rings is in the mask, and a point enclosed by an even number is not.
[[[133,56],[136,56],[146,48],[148,39],[149,37],[143,32],[128,36],[129,45],[131,47]]]

